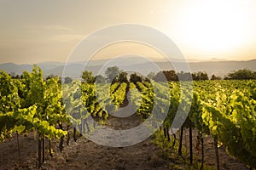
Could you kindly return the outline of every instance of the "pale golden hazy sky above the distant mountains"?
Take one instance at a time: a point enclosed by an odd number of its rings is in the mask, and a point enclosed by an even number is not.
[[[0,63],[65,62],[84,37],[122,23],[164,33],[186,59],[256,59],[255,8],[254,0],[0,0]],[[132,43],[107,48],[95,58],[160,57]]]

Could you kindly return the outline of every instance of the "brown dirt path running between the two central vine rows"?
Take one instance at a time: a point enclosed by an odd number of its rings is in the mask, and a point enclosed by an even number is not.
[[[140,121],[137,116],[111,118],[109,126],[113,128],[136,126]],[[124,126],[126,125],[126,126]],[[147,139],[130,147],[106,147],[95,144],[84,137],[73,143],[58,156],[55,164],[48,168],[55,169],[168,169],[164,161],[157,156],[159,149]],[[64,159],[60,161],[60,157]],[[153,158],[153,159],[152,159]]]

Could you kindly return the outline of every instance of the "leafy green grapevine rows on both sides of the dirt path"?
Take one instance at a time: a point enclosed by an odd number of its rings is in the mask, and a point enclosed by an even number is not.
[[[197,149],[201,152],[199,169],[206,168],[204,139],[207,137],[214,140],[214,168],[223,168],[219,165],[219,147],[248,168],[256,168],[254,80],[196,81],[193,84],[153,80],[80,83],[73,80],[61,84],[58,77],[44,80],[43,72],[35,66],[32,73],[25,71],[20,79],[0,71],[0,82],[0,141],[16,136],[20,153],[19,135],[35,133],[38,162],[34,164],[38,168],[44,166],[46,154],[53,156],[52,140],[58,139],[61,151],[64,140],[69,144],[72,131],[74,141],[82,134],[95,133],[98,127],[119,114],[119,108],[129,104],[136,108],[134,114],[142,122],[148,121],[148,125],[156,129],[154,140],[161,150],[170,149],[177,156],[183,156],[183,148],[189,147],[190,166],[197,163],[192,144],[193,133],[196,133]],[[177,116],[179,111],[181,114]],[[186,111],[187,114],[182,114]],[[179,128],[179,124],[182,127]],[[183,144],[186,129],[189,146]],[[168,154],[163,155],[168,160]],[[22,163],[17,164],[21,168]]]

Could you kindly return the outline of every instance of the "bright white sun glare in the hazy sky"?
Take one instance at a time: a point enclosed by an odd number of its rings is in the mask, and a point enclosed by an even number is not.
[[[247,41],[247,11],[237,1],[201,1],[183,14],[183,41],[191,48],[215,53]]]

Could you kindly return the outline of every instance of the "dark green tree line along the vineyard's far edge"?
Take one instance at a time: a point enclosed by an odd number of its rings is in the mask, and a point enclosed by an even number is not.
[[[9,74],[11,77],[19,79],[22,76],[15,75],[14,72]],[[45,79],[48,80],[54,75],[49,75]],[[129,78],[128,78],[129,77]],[[215,74],[212,74],[211,77],[207,74],[206,71],[197,71],[193,73],[189,72],[176,72],[174,70],[170,71],[159,71],[157,73],[150,72],[147,77],[143,77],[142,75],[138,75],[137,73],[132,73],[130,76],[126,71],[122,71],[119,69],[118,66],[108,67],[105,71],[105,77],[102,75],[93,76],[92,71],[83,71],[81,78],[82,82],[85,83],[104,83],[104,82],[148,82],[149,79],[152,79],[156,82],[163,82],[163,81],[174,81],[177,82],[179,80],[192,80],[193,81],[202,81],[202,80],[253,80],[256,79],[256,71],[250,71],[247,69],[242,69],[238,71],[232,71],[228,73],[224,78],[218,77]],[[71,77],[64,77],[64,83],[70,83],[73,79]],[[61,77],[60,77],[61,82]]]

